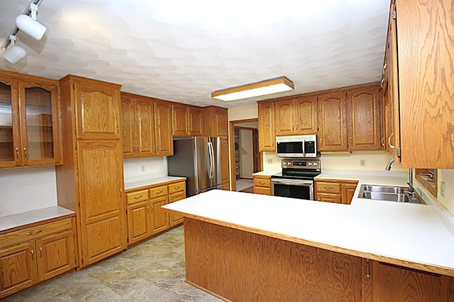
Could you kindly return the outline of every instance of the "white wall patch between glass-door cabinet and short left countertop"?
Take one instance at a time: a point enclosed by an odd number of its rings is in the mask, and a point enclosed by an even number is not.
[[[55,167],[0,169],[0,216],[57,206]]]

